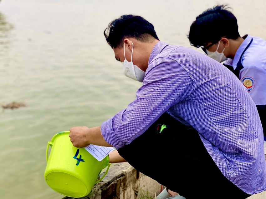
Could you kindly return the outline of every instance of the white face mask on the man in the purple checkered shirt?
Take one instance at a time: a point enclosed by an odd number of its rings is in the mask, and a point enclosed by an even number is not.
[[[131,42],[131,41],[130,41]],[[133,64],[132,55],[133,55],[133,42],[132,43],[132,53],[131,53],[131,62],[128,62],[126,59],[122,62],[125,69],[125,76],[130,77],[139,82],[143,82],[145,71],[141,70],[139,67]],[[125,43],[124,43],[124,55],[125,55]]]

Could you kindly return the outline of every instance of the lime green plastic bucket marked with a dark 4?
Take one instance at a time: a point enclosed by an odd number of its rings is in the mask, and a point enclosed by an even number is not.
[[[48,158],[49,146],[51,151]],[[74,198],[87,196],[92,187],[105,177],[110,167],[109,156],[98,161],[85,148],[74,147],[69,131],[57,133],[48,142],[46,159],[44,178],[49,187],[64,196]],[[105,174],[97,181],[105,167]]]

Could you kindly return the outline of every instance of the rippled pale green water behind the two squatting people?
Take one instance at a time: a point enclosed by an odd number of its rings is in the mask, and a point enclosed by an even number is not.
[[[63,198],[43,177],[47,142],[135,98],[141,83],[123,75],[103,35],[110,21],[141,15],[161,41],[191,47],[190,24],[215,3],[233,8],[242,36],[266,39],[264,0],[0,0],[0,103],[28,105],[0,112],[0,198]]]

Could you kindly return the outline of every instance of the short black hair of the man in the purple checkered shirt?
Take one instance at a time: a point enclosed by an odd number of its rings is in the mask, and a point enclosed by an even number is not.
[[[154,26],[141,16],[122,15],[109,23],[104,35],[107,43],[112,47],[120,47],[125,37],[133,37],[137,40],[147,42],[152,36],[159,40]]]

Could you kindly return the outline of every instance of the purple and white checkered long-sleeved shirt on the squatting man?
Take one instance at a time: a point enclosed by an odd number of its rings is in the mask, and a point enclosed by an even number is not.
[[[164,112],[199,132],[223,175],[240,189],[248,194],[266,190],[257,108],[226,67],[193,49],[158,42],[135,100],[102,123],[102,136],[118,149]]]

